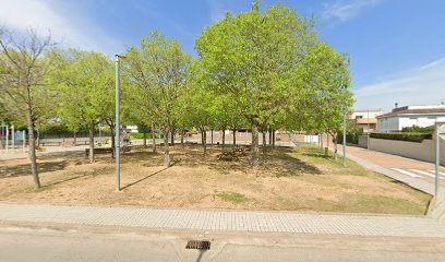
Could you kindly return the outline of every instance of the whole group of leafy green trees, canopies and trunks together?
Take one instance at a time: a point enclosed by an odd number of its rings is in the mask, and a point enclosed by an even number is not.
[[[323,43],[314,25],[313,17],[287,5],[262,12],[254,1],[249,12],[227,13],[204,28],[194,58],[178,40],[149,33],[122,57],[121,122],[144,133],[149,127],[154,133],[156,126],[167,167],[169,136],[177,132],[200,131],[205,154],[207,130],[221,130],[222,144],[226,130],[251,130],[253,166],[261,159],[258,132],[263,138],[279,129],[336,138],[353,104],[350,61]],[[88,129],[94,162],[97,124],[111,132],[121,128],[115,127],[112,58],[53,49],[50,37],[33,32],[23,38],[2,29],[0,47],[0,115],[26,122],[33,145],[39,119],[61,122],[74,133]],[[31,159],[37,177],[35,154]]]

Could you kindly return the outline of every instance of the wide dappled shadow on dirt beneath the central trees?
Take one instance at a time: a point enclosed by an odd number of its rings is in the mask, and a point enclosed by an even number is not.
[[[296,155],[296,151],[287,147],[268,148],[268,156],[262,159],[262,164],[257,168],[250,165],[250,150],[244,145],[227,146],[208,145],[207,154],[204,155],[202,145],[176,145],[170,147],[171,163],[182,167],[206,166],[219,172],[228,171],[261,171],[264,174],[273,174],[277,177],[299,176],[302,174],[322,175],[322,171],[314,165],[304,162]],[[230,155],[230,152],[236,152],[236,157],[221,157]],[[121,163],[141,164],[145,167],[158,167],[164,165],[163,148],[158,148],[157,153],[153,153],[151,148],[132,151],[131,154],[121,158]],[[108,162],[108,160],[106,160]],[[111,160],[110,160],[111,162]],[[163,169],[164,170],[164,169]],[[152,175],[143,178],[151,177]]]

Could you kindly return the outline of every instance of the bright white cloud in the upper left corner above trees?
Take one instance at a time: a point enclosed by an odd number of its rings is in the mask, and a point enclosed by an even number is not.
[[[61,2],[63,4],[63,2]],[[59,8],[62,5],[58,5]],[[69,17],[45,0],[2,0],[0,25],[17,32],[35,28],[41,35],[51,32],[51,37],[64,47],[96,51],[116,51],[118,45],[94,25],[64,7]],[[80,23],[82,22],[82,23]]]

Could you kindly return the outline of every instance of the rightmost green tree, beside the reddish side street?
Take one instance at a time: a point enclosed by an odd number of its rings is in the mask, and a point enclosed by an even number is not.
[[[349,60],[324,43],[313,46],[303,60],[304,106],[310,112],[304,121],[306,129],[326,132],[334,139],[337,152],[337,134],[341,130],[345,114],[353,105],[349,91],[351,76]]]

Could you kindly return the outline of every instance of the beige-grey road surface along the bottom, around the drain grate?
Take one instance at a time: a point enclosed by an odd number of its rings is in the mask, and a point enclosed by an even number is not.
[[[445,261],[445,239],[119,230],[2,226],[0,261]]]

